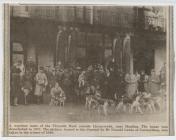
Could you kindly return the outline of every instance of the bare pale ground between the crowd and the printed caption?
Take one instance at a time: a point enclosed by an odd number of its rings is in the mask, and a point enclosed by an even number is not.
[[[165,112],[146,114],[115,113],[110,109],[108,116],[99,115],[97,110],[88,111],[84,105],[66,104],[65,107],[42,105],[19,105],[10,108],[11,122],[161,122],[166,120]]]

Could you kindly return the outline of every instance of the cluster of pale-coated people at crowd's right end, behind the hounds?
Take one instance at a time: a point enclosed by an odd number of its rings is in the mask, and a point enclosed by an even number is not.
[[[135,74],[126,74],[126,93],[129,98],[138,93],[151,93],[156,96],[166,91],[166,68],[165,64],[160,70],[160,74],[157,75],[155,70],[152,69],[150,75],[147,75],[144,70],[141,73],[136,72]]]

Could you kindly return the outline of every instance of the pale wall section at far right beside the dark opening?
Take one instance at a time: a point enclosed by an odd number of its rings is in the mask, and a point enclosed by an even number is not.
[[[159,74],[161,67],[166,62],[166,48],[156,47],[155,49],[155,71]]]

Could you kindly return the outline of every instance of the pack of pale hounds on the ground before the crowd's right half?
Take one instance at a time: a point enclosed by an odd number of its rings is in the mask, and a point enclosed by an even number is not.
[[[159,91],[160,93],[163,91]],[[116,113],[155,113],[161,112],[166,107],[166,94],[152,95],[147,92],[136,92],[129,98],[127,95],[117,96],[114,99],[105,99],[97,95],[87,95],[85,108],[88,110],[97,109],[98,114],[107,116],[109,109],[113,108]]]

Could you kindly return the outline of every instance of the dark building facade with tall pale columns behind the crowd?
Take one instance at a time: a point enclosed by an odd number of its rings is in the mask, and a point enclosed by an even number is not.
[[[156,9],[163,14],[151,7],[11,6],[11,62],[86,67],[114,58],[125,72],[158,70],[166,32],[164,8]]]

